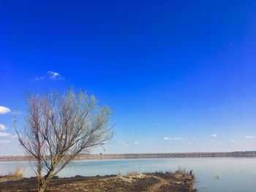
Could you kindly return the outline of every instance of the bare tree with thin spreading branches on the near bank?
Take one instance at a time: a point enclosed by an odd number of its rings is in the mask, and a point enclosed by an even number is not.
[[[31,157],[39,192],[75,157],[111,139],[110,115],[108,107],[99,107],[94,96],[83,91],[28,97],[26,126],[22,133],[17,128],[16,132]]]

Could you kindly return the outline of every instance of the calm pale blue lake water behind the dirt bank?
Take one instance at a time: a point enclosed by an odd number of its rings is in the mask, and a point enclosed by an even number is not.
[[[25,167],[25,177],[34,176],[27,162],[0,162],[0,174]],[[256,158],[148,158],[75,161],[59,173],[60,177],[94,176],[127,172],[175,171],[192,169],[200,191],[256,191]]]

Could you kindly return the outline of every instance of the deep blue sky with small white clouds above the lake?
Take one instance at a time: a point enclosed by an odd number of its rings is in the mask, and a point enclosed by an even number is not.
[[[12,118],[19,111],[23,128],[26,92],[71,87],[114,111],[103,153],[255,150],[255,9],[255,1],[1,1],[0,155],[23,154]]]

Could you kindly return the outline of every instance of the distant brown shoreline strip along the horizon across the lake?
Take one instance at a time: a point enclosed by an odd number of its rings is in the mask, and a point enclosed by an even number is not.
[[[196,153],[127,153],[127,154],[90,154],[80,155],[75,160],[89,159],[126,159],[126,158],[256,158],[256,151],[234,152],[196,152]],[[31,158],[23,155],[0,156],[0,161],[29,161]]]

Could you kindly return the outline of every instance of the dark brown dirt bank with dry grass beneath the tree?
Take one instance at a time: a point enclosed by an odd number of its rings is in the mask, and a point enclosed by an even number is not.
[[[2,180],[1,180],[2,179]],[[0,191],[37,191],[35,178],[24,178],[18,181],[4,181],[0,178]],[[54,177],[50,182],[48,192],[78,192],[78,191],[173,191],[192,192],[195,177],[180,173],[149,173],[131,174],[129,176],[107,175],[100,177]]]

